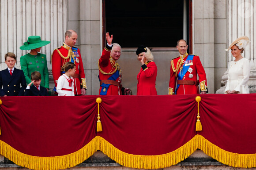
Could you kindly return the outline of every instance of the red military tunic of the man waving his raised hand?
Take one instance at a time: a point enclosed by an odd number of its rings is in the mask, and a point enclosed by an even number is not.
[[[112,76],[115,72],[119,72],[119,76],[115,81],[120,84],[122,81],[121,69],[120,69],[117,61],[115,61],[113,58],[110,57],[110,52],[111,52],[112,47],[109,47],[107,45],[103,49],[102,56],[98,61],[99,80],[108,80],[109,77]],[[115,64],[116,64],[116,66],[115,66]],[[116,68],[117,68],[117,70],[114,72],[114,70]],[[109,73],[112,73],[112,74],[109,74]],[[116,85],[110,84],[108,88],[100,87],[99,95],[101,95],[101,91],[104,91],[104,92],[107,91],[106,94],[102,94],[102,95],[122,95],[121,85],[116,86]]]

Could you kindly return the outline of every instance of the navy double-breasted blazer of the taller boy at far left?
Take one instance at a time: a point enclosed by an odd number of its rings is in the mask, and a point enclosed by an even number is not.
[[[23,96],[25,89],[26,79],[22,70],[15,68],[12,75],[8,68],[0,71],[0,96]]]

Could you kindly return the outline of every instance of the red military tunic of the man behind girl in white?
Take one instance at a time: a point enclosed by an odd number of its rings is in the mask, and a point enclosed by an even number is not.
[[[83,61],[78,48],[69,47],[65,43],[63,46],[55,49],[52,54],[52,67],[53,67],[53,80],[55,87],[57,87],[57,80],[63,74],[61,73],[61,67],[68,61],[73,61],[75,63],[75,75],[74,75],[74,90],[75,94],[81,94],[81,85],[83,88],[87,89],[85,75],[83,70]]]

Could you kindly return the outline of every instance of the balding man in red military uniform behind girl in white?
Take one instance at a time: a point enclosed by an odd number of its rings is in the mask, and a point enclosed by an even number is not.
[[[63,45],[56,48],[52,54],[52,66],[53,66],[53,80],[55,87],[57,87],[59,77],[64,74],[61,72],[61,67],[68,61],[75,64],[74,78],[74,90],[75,95],[85,95],[86,93],[86,81],[83,70],[83,61],[78,48],[74,47],[77,40],[77,33],[74,30],[68,30],[65,33],[65,41]],[[54,89],[55,89],[54,87]]]

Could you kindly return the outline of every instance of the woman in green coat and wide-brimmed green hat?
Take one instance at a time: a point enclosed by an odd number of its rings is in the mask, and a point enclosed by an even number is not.
[[[31,50],[30,53],[21,56],[20,65],[24,72],[26,83],[31,82],[31,72],[38,71],[41,74],[41,86],[49,90],[49,72],[47,68],[46,55],[39,53],[41,47],[50,41],[42,41],[40,36],[29,36],[28,40],[19,47],[21,50]]]

